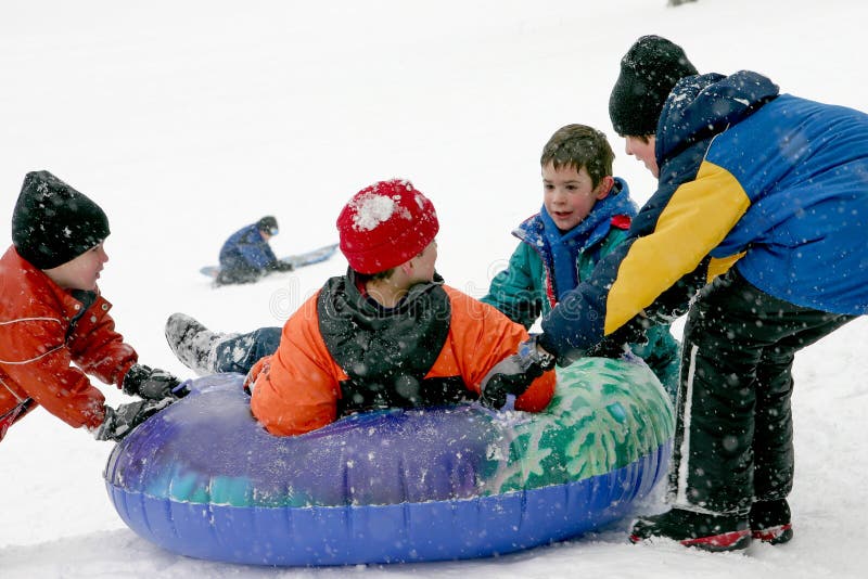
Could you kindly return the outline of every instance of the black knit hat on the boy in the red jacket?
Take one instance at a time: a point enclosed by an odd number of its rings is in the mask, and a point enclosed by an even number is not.
[[[28,172],[12,214],[12,243],[24,259],[51,269],[108,236],[99,205],[48,171]]]

